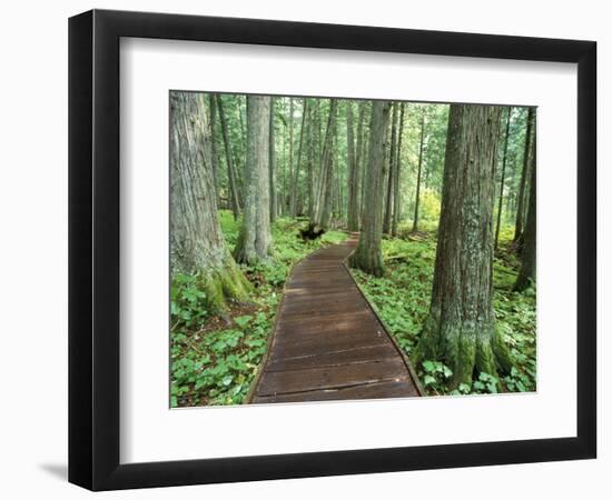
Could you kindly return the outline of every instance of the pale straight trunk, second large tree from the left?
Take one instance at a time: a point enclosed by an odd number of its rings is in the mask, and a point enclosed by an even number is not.
[[[245,218],[234,254],[254,264],[270,256],[269,143],[270,98],[247,97]]]

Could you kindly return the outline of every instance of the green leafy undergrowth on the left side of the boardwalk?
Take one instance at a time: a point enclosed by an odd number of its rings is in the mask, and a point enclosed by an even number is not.
[[[225,240],[234,249],[241,220],[219,211]],[[172,276],[170,287],[171,407],[239,404],[248,393],[273,330],[274,317],[292,266],[310,252],[346,239],[329,231],[315,241],[303,241],[305,222],[277,219],[273,257],[243,266],[254,286],[249,303],[229,303],[227,317],[206,310],[206,296],[195,277]]]

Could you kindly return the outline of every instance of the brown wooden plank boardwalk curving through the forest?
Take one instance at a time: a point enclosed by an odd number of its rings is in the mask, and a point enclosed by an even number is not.
[[[421,396],[409,362],[344,266],[356,241],[353,234],[294,267],[248,402]]]

